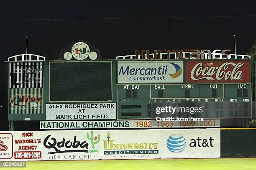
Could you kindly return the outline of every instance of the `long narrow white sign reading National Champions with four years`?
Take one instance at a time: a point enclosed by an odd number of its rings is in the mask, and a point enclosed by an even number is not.
[[[220,120],[156,121],[156,120],[84,120],[40,121],[40,129],[127,129],[127,128],[206,128],[220,127]]]

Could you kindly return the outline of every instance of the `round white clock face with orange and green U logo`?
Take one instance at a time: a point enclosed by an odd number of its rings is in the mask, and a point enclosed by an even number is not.
[[[75,59],[84,60],[90,54],[90,48],[85,42],[76,42],[71,52]]]

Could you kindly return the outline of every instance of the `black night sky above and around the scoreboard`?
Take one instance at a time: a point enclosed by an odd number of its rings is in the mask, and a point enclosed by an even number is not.
[[[7,126],[6,63],[26,53],[57,60],[69,42],[94,43],[103,59],[136,49],[231,49],[245,54],[256,41],[256,1],[84,0],[10,1],[0,5],[2,90],[0,130]],[[168,18],[175,30],[168,30]]]

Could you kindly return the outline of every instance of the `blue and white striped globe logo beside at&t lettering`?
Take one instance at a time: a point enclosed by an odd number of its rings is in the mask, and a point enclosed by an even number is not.
[[[180,153],[186,147],[186,140],[182,135],[173,134],[167,139],[166,145],[172,153]]]

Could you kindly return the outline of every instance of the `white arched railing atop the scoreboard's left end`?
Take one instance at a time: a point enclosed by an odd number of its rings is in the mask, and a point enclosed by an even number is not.
[[[35,54],[19,54],[8,57],[8,61],[45,61],[45,57]]]

